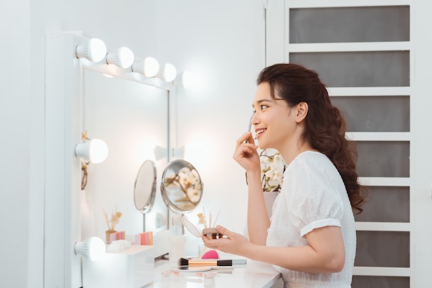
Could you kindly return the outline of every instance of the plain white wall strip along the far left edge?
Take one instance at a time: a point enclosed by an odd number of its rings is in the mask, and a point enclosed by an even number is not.
[[[30,1],[0,4],[0,286],[26,287],[30,189]],[[5,257],[6,256],[6,257]],[[23,265],[24,264],[24,265]],[[17,278],[10,277],[16,275]]]

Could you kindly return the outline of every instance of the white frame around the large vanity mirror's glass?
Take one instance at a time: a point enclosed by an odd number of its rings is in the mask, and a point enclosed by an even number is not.
[[[46,34],[45,50],[45,131],[50,141],[45,143],[45,201],[43,221],[44,282],[48,287],[60,287],[65,279],[72,287],[81,283],[81,257],[73,251],[73,244],[81,241],[81,163],[72,151],[81,142],[82,69],[95,70],[113,77],[162,88],[168,92],[168,151],[175,143],[175,94],[173,83],[146,78],[130,69],[108,67],[77,59],[75,48],[86,41],[83,32],[55,32]],[[168,163],[170,155],[168,155]],[[169,217],[169,209],[168,217]],[[169,229],[168,221],[168,229]],[[154,236],[155,256],[169,251],[170,231]],[[68,263],[65,267],[65,263]],[[59,267],[65,267],[59,271]]]

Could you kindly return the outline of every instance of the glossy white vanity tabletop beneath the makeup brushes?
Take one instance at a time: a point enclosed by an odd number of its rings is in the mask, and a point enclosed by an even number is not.
[[[247,260],[245,265],[234,265],[233,269],[213,270],[209,272],[172,272],[173,263],[168,260],[156,260],[153,282],[144,288],[270,288],[281,278],[280,273],[263,262]]]

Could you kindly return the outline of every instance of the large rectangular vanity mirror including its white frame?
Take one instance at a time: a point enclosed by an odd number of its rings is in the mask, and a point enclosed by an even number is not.
[[[88,236],[106,238],[106,214],[121,213],[115,228],[126,236],[135,236],[144,227],[153,231],[155,256],[169,249],[168,208],[161,194],[156,193],[144,219],[134,204],[134,184],[145,160],[155,160],[157,182],[170,161],[175,86],[106,61],[77,58],[77,46],[87,40],[82,32],[46,35],[44,147],[49,153],[44,155],[43,280],[47,287],[82,287],[81,256],[73,248]],[[104,140],[110,153],[105,162],[88,165],[83,190],[81,160],[74,148],[86,131],[90,138]],[[158,146],[164,153],[156,158]]]

